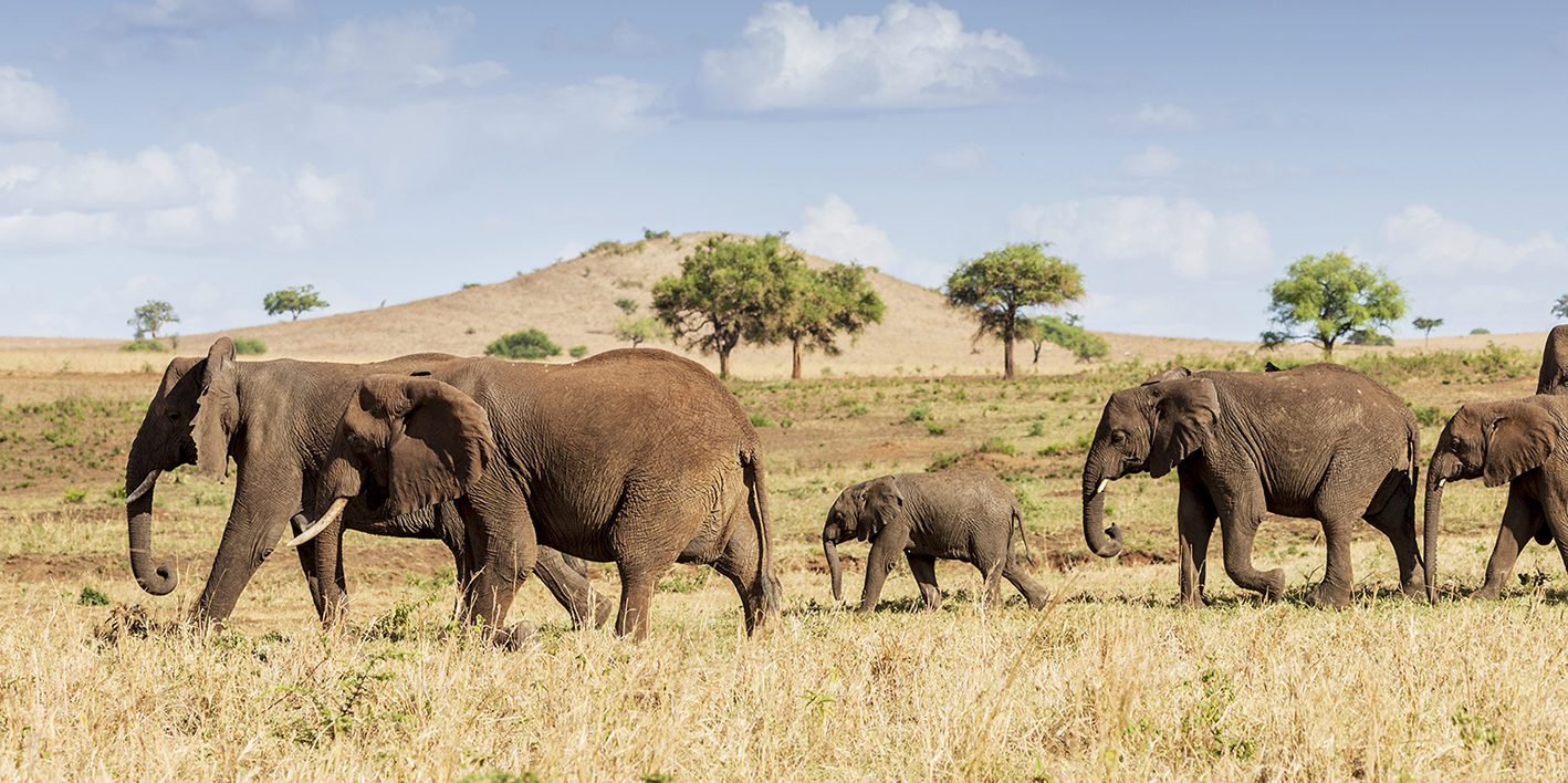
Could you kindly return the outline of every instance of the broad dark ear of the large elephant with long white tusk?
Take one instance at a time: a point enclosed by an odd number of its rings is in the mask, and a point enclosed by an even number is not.
[[[389,433],[386,510],[390,515],[463,496],[494,458],[495,441],[485,408],[434,378],[365,378],[359,405],[383,419]]]

